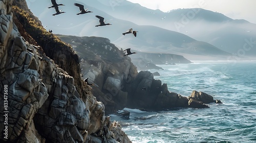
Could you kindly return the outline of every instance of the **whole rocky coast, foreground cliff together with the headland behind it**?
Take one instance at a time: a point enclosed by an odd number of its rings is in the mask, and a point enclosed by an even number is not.
[[[0,25],[1,142],[131,142],[105,112],[216,102],[169,92],[106,38],[73,38],[82,49],[62,42],[24,0],[0,1]]]

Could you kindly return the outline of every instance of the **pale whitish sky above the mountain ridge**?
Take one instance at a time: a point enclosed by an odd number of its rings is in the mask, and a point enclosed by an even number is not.
[[[122,1],[122,0],[111,0]],[[255,0],[127,0],[163,12],[178,8],[203,8],[222,13],[232,19],[245,19],[256,23]]]

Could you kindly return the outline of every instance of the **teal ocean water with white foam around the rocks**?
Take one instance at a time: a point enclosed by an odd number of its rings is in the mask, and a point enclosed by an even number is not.
[[[256,61],[193,61],[158,65],[155,76],[168,90],[190,96],[203,91],[223,104],[210,108],[175,108],[146,112],[129,109],[130,119],[119,121],[133,142],[256,142]]]

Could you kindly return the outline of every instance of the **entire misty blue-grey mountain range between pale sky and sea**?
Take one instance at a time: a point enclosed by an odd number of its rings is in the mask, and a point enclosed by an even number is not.
[[[75,3],[93,13],[76,15]],[[37,10],[32,8],[37,6]],[[128,1],[63,1],[59,9],[66,13],[52,16],[50,2],[31,3],[32,12],[53,33],[98,36],[111,40],[122,49],[145,53],[178,54],[189,60],[238,60],[255,58],[256,25],[243,19],[231,19],[204,9],[151,10]],[[95,27],[105,18],[112,26]],[[133,28],[137,37],[122,33]],[[236,57],[235,57],[236,56]]]

